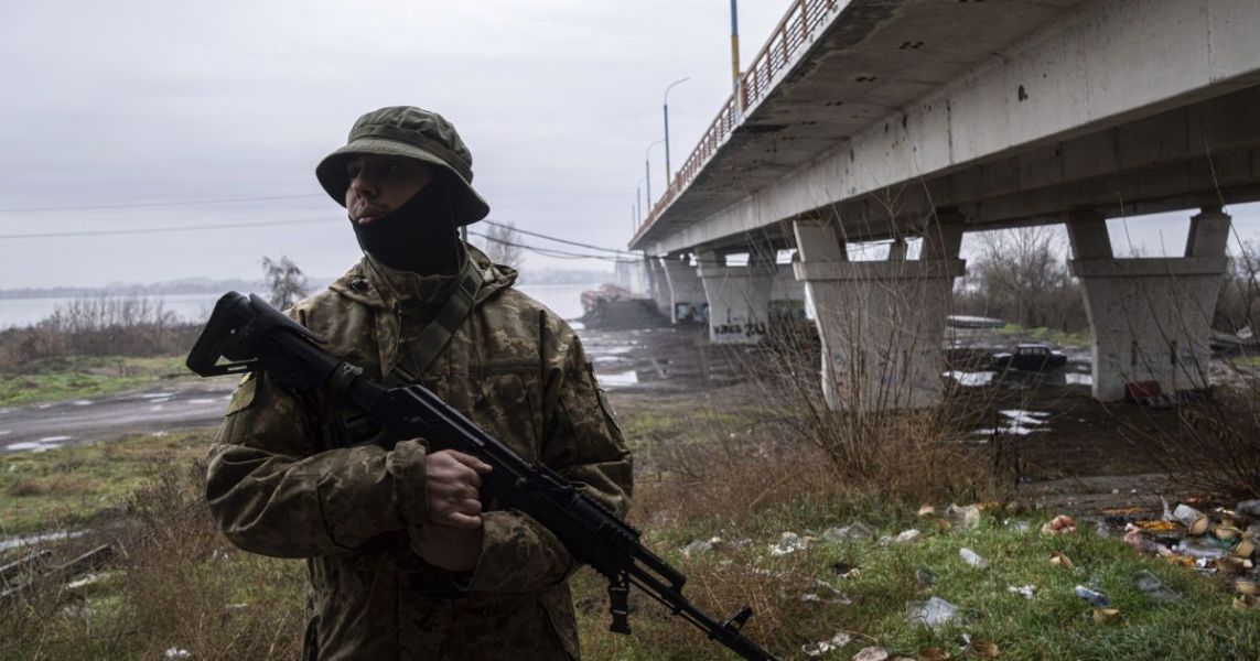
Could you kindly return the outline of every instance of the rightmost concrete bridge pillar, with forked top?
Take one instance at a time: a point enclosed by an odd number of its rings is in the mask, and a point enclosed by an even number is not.
[[[1194,215],[1184,257],[1116,259],[1106,219],[1092,210],[1072,213],[1067,232],[1094,331],[1094,398],[1124,399],[1129,383],[1155,381],[1163,393],[1207,387],[1230,217],[1218,206]]]

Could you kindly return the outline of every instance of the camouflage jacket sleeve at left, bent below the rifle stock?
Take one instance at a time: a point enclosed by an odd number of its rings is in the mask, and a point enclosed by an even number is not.
[[[210,447],[205,492],[233,544],[310,558],[427,520],[423,446],[320,451],[310,410],[265,375],[247,378],[233,395]]]

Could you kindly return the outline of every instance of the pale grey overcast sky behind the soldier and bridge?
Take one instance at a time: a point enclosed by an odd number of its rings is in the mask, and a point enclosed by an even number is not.
[[[745,63],[786,8],[740,3]],[[491,219],[624,247],[665,87],[690,77],[669,98],[675,167],[730,94],[728,11],[726,0],[5,1],[0,288],[253,278],[263,256],[339,274],[360,253],[314,167],[360,113],[388,105],[455,122]],[[664,152],[651,156],[659,195]],[[134,206],[239,198],[282,199]],[[20,210],[66,206],[88,208]],[[1166,223],[1181,244],[1183,223]],[[223,224],[238,227],[159,232]],[[118,229],[145,232],[13,238]]]

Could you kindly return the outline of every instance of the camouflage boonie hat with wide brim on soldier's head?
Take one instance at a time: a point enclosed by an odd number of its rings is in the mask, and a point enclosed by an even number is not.
[[[359,117],[345,146],[315,166],[320,185],[341,206],[350,185],[345,161],[364,154],[416,159],[454,175],[449,179],[455,184],[451,190],[459,225],[476,223],[490,213],[490,205],[472,190],[472,152],[464,146],[455,126],[436,112],[391,106]]]

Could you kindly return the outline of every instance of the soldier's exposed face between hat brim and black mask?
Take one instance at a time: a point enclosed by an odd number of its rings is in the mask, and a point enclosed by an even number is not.
[[[411,159],[357,156],[345,165],[350,185],[345,210],[360,225],[373,223],[425,190],[433,170]]]

